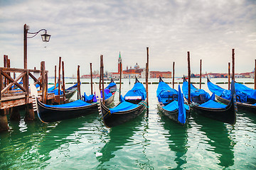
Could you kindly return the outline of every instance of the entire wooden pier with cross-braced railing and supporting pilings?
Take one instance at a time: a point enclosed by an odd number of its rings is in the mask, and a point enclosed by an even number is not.
[[[11,77],[13,73],[13,77]],[[34,74],[41,74],[36,78]],[[18,76],[16,77],[16,74]],[[10,67],[10,60],[4,55],[4,67],[0,67],[0,131],[8,130],[8,120],[6,115],[11,114],[12,120],[20,120],[18,113],[19,106],[25,106],[25,120],[34,120],[35,115],[32,107],[32,98],[29,96],[28,77],[33,79],[33,84],[41,87],[39,100],[43,103],[52,101],[53,94],[48,94],[48,71],[45,62],[41,62],[41,69],[15,69]],[[22,79],[23,84],[18,84]],[[15,86],[14,86],[15,85]],[[15,89],[17,88],[17,89]]]

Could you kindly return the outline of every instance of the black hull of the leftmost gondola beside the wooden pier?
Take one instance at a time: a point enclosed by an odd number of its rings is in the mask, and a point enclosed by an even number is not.
[[[78,118],[82,115],[88,115],[98,112],[97,103],[92,103],[90,106],[82,106],[76,108],[48,108],[38,101],[38,118],[43,123],[52,123],[55,121]]]

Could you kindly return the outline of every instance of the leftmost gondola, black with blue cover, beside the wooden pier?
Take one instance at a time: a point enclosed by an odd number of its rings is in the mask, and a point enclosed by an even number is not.
[[[55,121],[78,118],[82,115],[88,115],[98,111],[97,103],[86,103],[85,101],[73,101],[60,105],[46,105],[38,100],[36,86],[31,85],[31,96],[35,96],[35,110],[38,118],[43,123],[52,123]],[[34,110],[34,111],[35,111]]]

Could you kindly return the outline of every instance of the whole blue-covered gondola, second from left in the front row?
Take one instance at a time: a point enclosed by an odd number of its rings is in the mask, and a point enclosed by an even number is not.
[[[100,101],[102,120],[107,128],[112,128],[136,118],[146,108],[146,90],[136,78],[131,90],[125,94],[121,102],[114,108],[107,108]]]

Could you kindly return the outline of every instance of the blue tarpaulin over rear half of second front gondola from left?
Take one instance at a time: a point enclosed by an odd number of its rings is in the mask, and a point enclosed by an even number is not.
[[[142,101],[146,100],[146,89],[142,83],[137,82],[134,84],[133,88],[124,95],[124,98],[127,96],[142,96]]]

